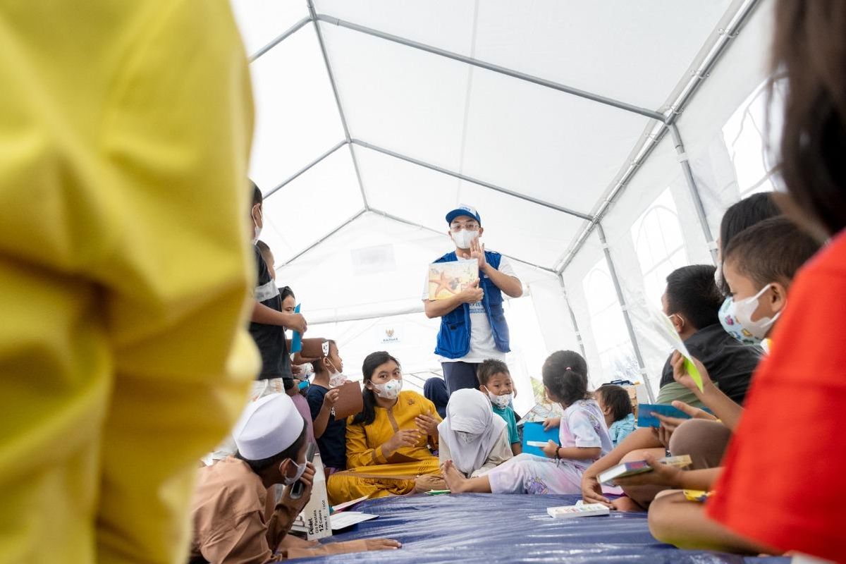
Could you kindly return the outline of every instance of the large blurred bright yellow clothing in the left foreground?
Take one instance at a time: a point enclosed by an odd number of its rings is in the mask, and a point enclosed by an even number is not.
[[[246,401],[227,0],[0,0],[0,562],[181,562]]]

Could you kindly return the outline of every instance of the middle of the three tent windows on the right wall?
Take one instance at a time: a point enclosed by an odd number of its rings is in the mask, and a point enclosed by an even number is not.
[[[667,275],[689,263],[673,194],[666,189],[631,228],[649,303],[661,306]]]

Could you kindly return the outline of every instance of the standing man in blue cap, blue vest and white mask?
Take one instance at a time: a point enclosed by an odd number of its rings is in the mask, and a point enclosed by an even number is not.
[[[514,276],[508,259],[490,250],[479,238],[485,230],[481,217],[469,205],[460,205],[447,214],[449,236],[455,250],[436,260],[476,260],[479,278],[463,292],[451,298],[429,299],[429,283],[423,300],[426,316],[441,318],[435,353],[440,356],[443,379],[450,394],[461,388],[478,388],[476,366],[486,359],[505,360],[508,347],[508,323],[503,313],[503,293],[517,298],[523,285]]]

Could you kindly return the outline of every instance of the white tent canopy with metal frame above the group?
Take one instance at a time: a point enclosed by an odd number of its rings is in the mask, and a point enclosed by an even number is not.
[[[527,290],[507,313],[521,386],[581,347],[595,384],[656,388],[667,350],[647,304],[673,268],[711,261],[739,178],[771,172],[749,134],[770,2],[233,7],[253,53],[262,239],[346,371],[380,348],[437,370],[423,277],[466,203]]]

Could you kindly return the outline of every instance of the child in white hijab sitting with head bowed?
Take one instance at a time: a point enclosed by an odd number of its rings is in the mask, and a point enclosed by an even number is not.
[[[514,455],[508,425],[496,417],[491,402],[478,390],[456,390],[449,397],[447,418],[437,426],[441,463],[452,460],[468,477],[486,473]]]

